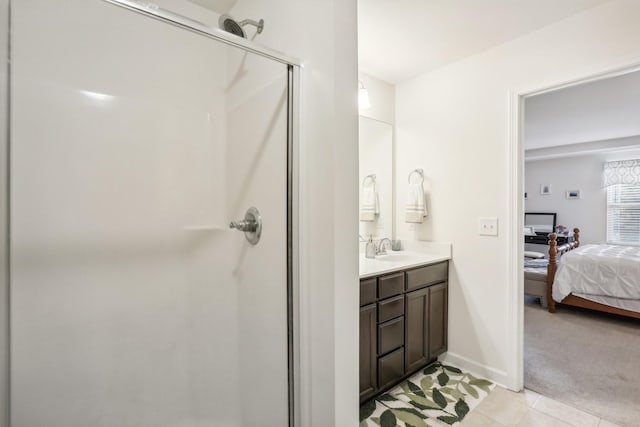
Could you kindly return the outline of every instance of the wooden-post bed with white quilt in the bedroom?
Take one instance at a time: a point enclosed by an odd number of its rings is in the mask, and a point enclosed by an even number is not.
[[[559,302],[640,319],[640,248],[580,245],[579,230],[575,234],[573,250],[560,263],[558,252],[565,245],[558,246],[556,236],[549,235],[549,311],[554,313]]]

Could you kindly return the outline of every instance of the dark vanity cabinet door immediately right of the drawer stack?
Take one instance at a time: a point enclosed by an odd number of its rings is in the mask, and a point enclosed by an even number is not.
[[[405,295],[405,368],[410,373],[429,360],[429,288]]]

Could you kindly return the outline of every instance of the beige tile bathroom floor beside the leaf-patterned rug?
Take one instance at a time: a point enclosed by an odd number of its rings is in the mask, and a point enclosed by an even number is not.
[[[617,427],[534,391],[496,387],[460,423],[461,427]]]

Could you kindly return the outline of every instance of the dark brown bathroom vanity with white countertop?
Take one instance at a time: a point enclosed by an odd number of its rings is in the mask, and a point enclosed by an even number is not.
[[[388,257],[360,263],[360,402],[447,350],[448,257]]]

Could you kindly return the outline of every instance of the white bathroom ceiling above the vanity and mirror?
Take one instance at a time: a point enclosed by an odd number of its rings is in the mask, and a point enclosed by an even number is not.
[[[607,1],[358,0],[360,71],[399,83]]]

